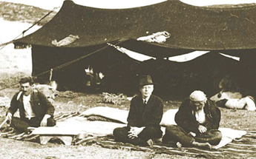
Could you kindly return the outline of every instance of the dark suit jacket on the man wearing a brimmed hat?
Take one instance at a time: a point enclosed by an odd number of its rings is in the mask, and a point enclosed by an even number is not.
[[[160,128],[160,122],[163,117],[163,101],[156,95],[151,95],[143,108],[141,96],[135,96],[131,100],[130,111],[128,114],[128,126],[154,126]]]

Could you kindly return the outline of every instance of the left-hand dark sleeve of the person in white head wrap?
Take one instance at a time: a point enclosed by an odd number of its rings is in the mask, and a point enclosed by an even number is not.
[[[198,126],[200,124],[195,120],[189,106],[189,99],[183,101],[177,114],[175,115],[175,122],[178,126],[186,129],[188,132],[199,133]]]

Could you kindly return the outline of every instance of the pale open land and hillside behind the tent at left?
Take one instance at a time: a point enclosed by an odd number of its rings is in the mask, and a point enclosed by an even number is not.
[[[12,41],[14,38],[22,38],[24,30],[27,30],[49,12],[50,10],[39,7],[0,1],[0,44]],[[38,30],[55,15],[56,12],[50,13],[24,35]],[[0,89],[15,84],[21,76],[31,75],[31,72],[31,48],[15,50],[13,44],[0,47]]]

